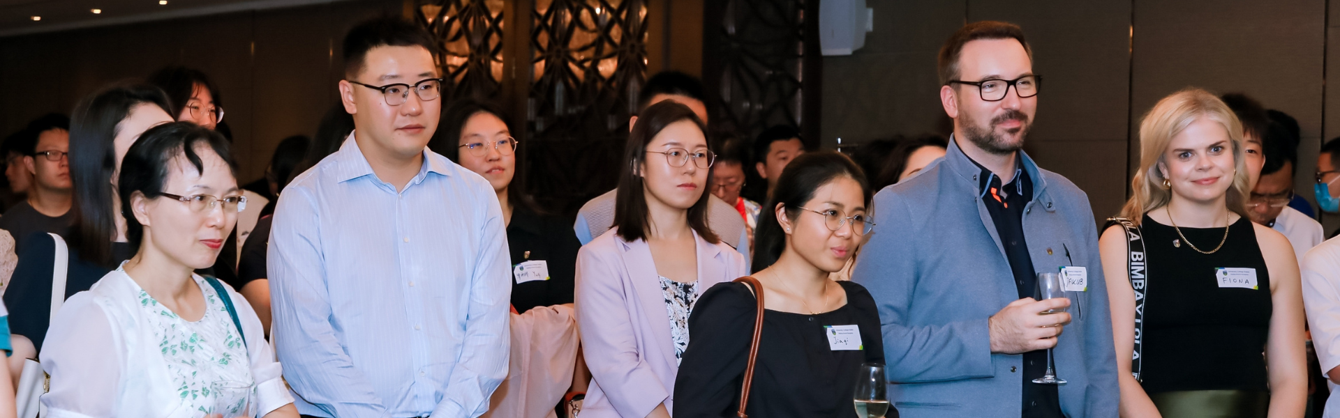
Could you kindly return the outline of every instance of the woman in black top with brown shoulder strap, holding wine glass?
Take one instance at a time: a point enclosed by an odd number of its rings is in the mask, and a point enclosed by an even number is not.
[[[807,153],[781,173],[758,220],[754,249],[753,276],[766,311],[750,417],[856,417],[860,364],[884,362],[879,312],[864,287],[828,273],[842,269],[871,232],[870,198],[860,167],[838,153]],[[734,417],[756,303],[740,283],[713,285],[698,300],[675,379],[675,417]],[[833,342],[833,331],[852,340]]]

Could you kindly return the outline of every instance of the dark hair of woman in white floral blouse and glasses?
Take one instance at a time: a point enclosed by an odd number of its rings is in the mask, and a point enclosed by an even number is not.
[[[117,192],[121,193],[121,213],[126,214],[126,238],[133,248],[138,248],[145,236],[145,226],[134,217],[130,201],[135,192],[147,198],[163,194],[163,185],[168,182],[168,166],[178,155],[185,155],[186,161],[196,167],[197,173],[205,173],[205,163],[200,159],[198,146],[205,146],[218,154],[228,165],[229,174],[237,174],[237,162],[228,151],[228,139],[222,134],[208,127],[190,122],[163,123],[146,130],[121,162],[121,176],[117,181]]]

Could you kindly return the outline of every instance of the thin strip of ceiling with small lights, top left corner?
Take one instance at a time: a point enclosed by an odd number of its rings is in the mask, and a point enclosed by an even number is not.
[[[340,0],[0,0],[0,36],[55,32]],[[92,9],[102,13],[92,13]],[[32,16],[42,16],[34,21]]]

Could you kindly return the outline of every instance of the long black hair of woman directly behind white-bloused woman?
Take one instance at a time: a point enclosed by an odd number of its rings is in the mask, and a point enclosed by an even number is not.
[[[172,115],[162,90],[150,84],[118,83],[79,100],[70,119],[70,178],[74,181],[71,245],[84,260],[107,267],[117,238],[118,208],[111,176],[117,170],[117,133],[139,104],[158,106]]]

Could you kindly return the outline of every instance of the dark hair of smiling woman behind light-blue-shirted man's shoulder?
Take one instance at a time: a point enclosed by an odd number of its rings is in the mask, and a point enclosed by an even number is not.
[[[442,107],[442,119],[437,123],[437,131],[433,133],[433,138],[427,141],[427,149],[442,154],[442,157],[446,157],[452,162],[460,163],[461,130],[465,129],[465,123],[470,122],[470,118],[481,113],[497,117],[507,126],[507,130],[512,131],[512,123],[508,122],[507,113],[497,103],[472,98],[457,99],[450,106]],[[512,171],[512,182],[507,188],[508,204],[512,208],[520,208],[532,213],[545,213],[535,202],[535,198],[529,193],[525,193],[525,169],[523,167],[525,159],[521,150],[521,143],[517,143],[513,153],[516,155],[516,166]]]

